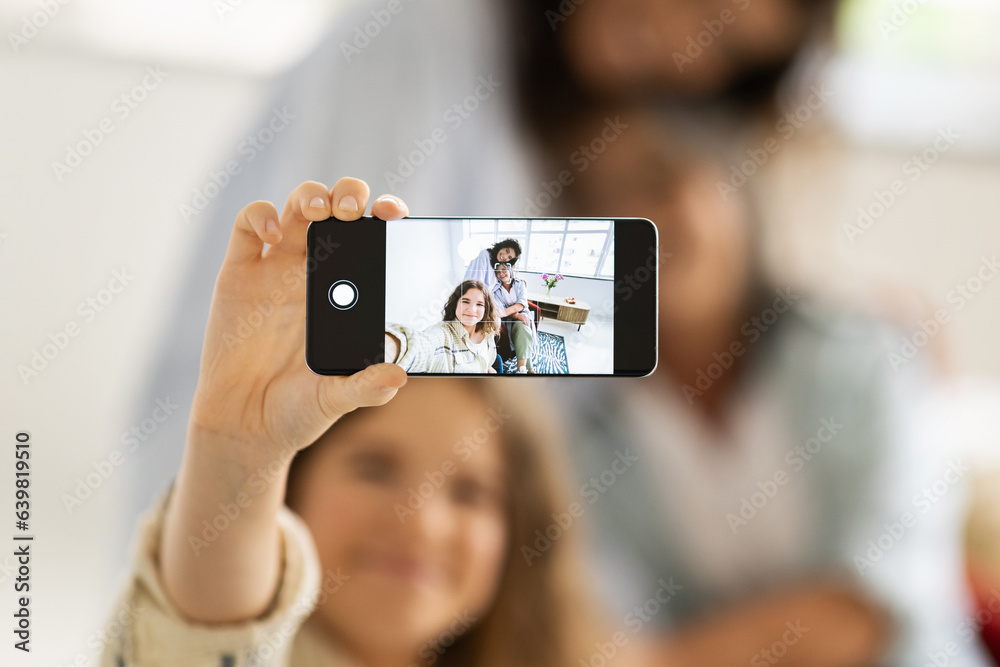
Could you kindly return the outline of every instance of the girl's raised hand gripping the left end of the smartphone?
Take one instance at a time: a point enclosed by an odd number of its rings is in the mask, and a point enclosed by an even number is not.
[[[340,415],[385,403],[405,384],[392,364],[320,377],[303,363],[308,225],[331,216],[357,220],[368,200],[364,181],[342,178],[333,188],[301,184],[280,215],[266,201],[239,212],[212,295],[189,433],[232,441],[245,460],[270,461],[314,442]],[[396,198],[379,198],[372,213],[408,211]]]

